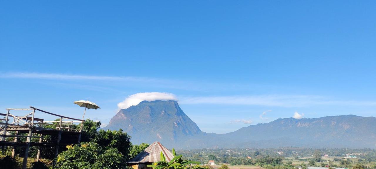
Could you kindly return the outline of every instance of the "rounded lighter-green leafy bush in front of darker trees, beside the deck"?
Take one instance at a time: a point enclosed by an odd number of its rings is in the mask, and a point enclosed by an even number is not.
[[[68,150],[59,154],[57,169],[125,169],[123,154],[116,148],[99,146],[95,142],[82,142],[67,146]]]

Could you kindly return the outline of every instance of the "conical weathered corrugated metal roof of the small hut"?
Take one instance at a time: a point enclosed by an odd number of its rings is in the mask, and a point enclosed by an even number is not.
[[[167,162],[170,162],[174,158],[170,150],[164,147],[160,142],[153,142],[143,152],[139,153],[136,157],[130,160],[128,163],[154,163],[161,159],[161,152],[166,158]]]

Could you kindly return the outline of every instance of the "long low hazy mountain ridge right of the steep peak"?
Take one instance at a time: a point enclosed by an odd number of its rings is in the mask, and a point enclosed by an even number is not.
[[[279,118],[243,127],[222,137],[243,140],[237,143],[238,147],[376,148],[375,129],[375,117]]]

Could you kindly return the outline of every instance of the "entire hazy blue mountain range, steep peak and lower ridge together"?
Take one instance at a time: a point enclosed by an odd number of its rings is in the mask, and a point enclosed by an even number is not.
[[[169,148],[376,148],[376,118],[355,115],[279,118],[235,132],[202,132],[176,101],[143,101],[121,109],[105,129],[123,129],[134,144],[160,141]]]

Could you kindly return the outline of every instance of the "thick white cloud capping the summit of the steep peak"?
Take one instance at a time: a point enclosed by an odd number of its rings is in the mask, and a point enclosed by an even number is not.
[[[146,92],[136,93],[129,95],[123,102],[118,103],[119,109],[126,109],[130,106],[138,105],[142,101],[154,101],[154,100],[176,100],[177,98],[172,93],[160,93],[160,92]]]

